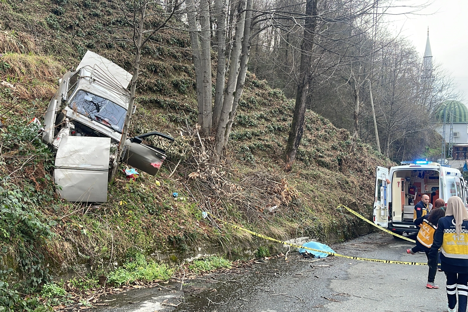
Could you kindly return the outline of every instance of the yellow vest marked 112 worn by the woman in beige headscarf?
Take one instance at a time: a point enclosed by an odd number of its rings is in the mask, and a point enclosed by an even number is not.
[[[444,240],[440,252],[448,258],[468,259],[468,228],[461,226],[461,233],[455,231],[455,219],[444,225]],[[464,222],[466,224],[466,222]]]

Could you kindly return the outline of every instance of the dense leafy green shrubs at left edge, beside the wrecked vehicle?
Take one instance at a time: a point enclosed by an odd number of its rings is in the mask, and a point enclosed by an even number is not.
[[[3,158],[5,163],[0,164],[18,168],[16,171],[25,173],[21,179],[0,176],[1,250],[3,253],[8,252],[9,257],[18,263],[18,267],[14,269],[25,276],[26,279],[22,281],[25,287],[37,287],[49,280],[44,254],[48,250],[47,240],[52,236],[50,226],[55,224],[52,221],[47,222],[37,209],[39,205],[51,202],[55,197],[53,185],[46,183],[51,180],[46,170],[53,165],[53,157],[37,135],[37,130],[38,126],[35,124],[28,125],[18,121],[0,131],[2,153],[14,150],[17,156]],[[24,163],[24,159],[29,159],[29,162]],[[42,168],[42,173],[38,170],[31,175],[26,174],[32,168]],[[3,272],[0,270],[0,277],[5,272],[5,269]]]

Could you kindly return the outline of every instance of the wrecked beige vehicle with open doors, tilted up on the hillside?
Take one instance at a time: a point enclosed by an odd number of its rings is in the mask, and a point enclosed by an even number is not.
[[[42,138],[57,152],[54,181],[67,201],[107,201],[131,79],[123,68],[87,51],[76,70],[59,80],[44,115]],[[156,131],[128,138],[121,161],[155,175],[166,159],[166,151],[154,146],[156,138],[174,143],[174,138]]]

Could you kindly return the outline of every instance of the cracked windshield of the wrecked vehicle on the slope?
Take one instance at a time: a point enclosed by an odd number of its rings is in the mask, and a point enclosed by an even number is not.
[[[79,90],[68,107],[73,109],[75,113],[87,116],[89,119],[122,133],[127,110],[114,102]]]

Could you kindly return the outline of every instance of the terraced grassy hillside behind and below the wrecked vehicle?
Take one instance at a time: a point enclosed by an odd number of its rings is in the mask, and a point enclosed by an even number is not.
[[[7,52],[0,58],[0,75],[16,87],[11,92],[0,86],[1,101],[14,107],[4,116],[5,124],[25,120],[28,114],[42,115],[57,78],[76,66],[87,49],[131,69],[131,47],[122,40],[122,20],[111,1],[55,1],[0,2],[0,24],[6,29],[0,33],[0,49]],[[236,244],[254,243],[240,232],[204,222],[203,209],[277,238],[353,235],[358,221],[336,210],[340,203],[370,215],[375,166],[388,165],[388,160],[366,145],[349,154],[348,131],[309,111],[299,159],[285,175],[281,155],[293,103],[253,75],[241,99],[226,162],[212,165],[212,140],[204,138],[203,150],[193,131],[196,102],[189,42],[186,34],[164,30],[145,50],[131,132],[158,130],[177,137],[178,145],[160,174],[143,174],[136,183],[117,176],[110,201],[99,206],[57,198],[37,205],[44,219],[55,221],[52,231],[58,235],[50,240],[49,250],[57,266],[89,263],[101,268],[134,250],[185,252],[203,241],[236,254]],[[168,178],[182,148],[191,151],[190,157]],[[13,161],[1,175],[21,164]],[[46,172],[28,167],[21,168],[16,185],[50,187],[47,180],[38,185],[32,179]],[[174,200],[172,192],[183,198]],[[267,208],[274,205],[278,208],[270,212]],[[13,246],[10,252],[14,250]],[[170,259],[176,261],[176,256]]]

